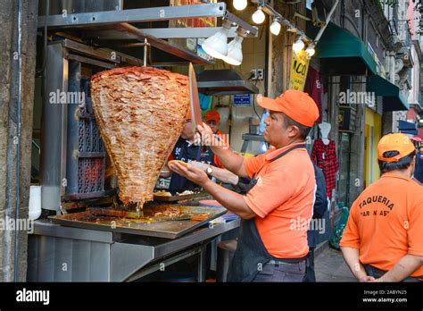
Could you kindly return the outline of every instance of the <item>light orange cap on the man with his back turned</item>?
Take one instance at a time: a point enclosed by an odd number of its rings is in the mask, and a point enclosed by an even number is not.
[[[399,154],[392,157],[383,156],[386,151],[398,151]],[[377,144],[377,159],[385,162],[398,162],[402,157],[415,151],[414,144],[405,134],[387,134]]]

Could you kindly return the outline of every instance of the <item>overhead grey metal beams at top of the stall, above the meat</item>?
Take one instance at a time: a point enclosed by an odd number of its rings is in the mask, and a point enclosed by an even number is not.
[[[192,19],[200,17],[218,17],[232,21],[242,29],[245,29],[247,37],[256,37],[257,28],[239,19],[236,15],[227,11],[227,5],[223,2],[217,4],[192,4],[182,6],[162,6],[144,9],[116,10],[89,13],[55,14],[38,17],[38,28],[48,29],[92,29],[90,38],[101,40],[107,39],[137,39],[141,44],[148,41],[148,44],[161,49],[171,55],[176,55],[196,64],[211,64],[212,62],[203,59],[195,53],[178,46],[170,44],[163,38],[208,38],[212,31],[217,28],[197,29],[139,29],[130,22],[145,21],[171,21],[178,19]],[[98,31],[98,26],[107,27],[106,30]],[[235,29],[234,29],[235,30]],[[230,37],[235,37],[232,30]]]

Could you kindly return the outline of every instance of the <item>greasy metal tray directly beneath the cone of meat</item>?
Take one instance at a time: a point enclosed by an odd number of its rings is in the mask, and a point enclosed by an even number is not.
[[[79,212],[68,215],[56,215],[49,217],[53,223],[69,227],[83,229],[93,229],[99,231],[112,231],[120,233],[129,233],[144,235],[165,239],[177,239],[189,231],[209,223],[211,220],[227,213],[224,207],[206,207],[206,206],[178,206],[182,214],[199,215],[209,214],[209,217],[203,221],[196,220],[173,220],[148,223],[136,219],[114,217],[113,219],[84,220],[87,212]],[[82,219],[82,220],[79,220]]]

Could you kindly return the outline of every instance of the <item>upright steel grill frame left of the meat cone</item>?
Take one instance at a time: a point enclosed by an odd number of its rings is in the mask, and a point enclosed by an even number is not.
[[[83,56],[84,55],[84,56]],[[70,194],[67,187],[75,189],[68,180],[74,180],[76,157],[104,157],[104,153],[70,153],[78,151],[76,129],[69,128],[72,120],[77,118],[76,103],[51,104],[49,95],[53,92],[78,91],[80,80],[80,63],[89,63],[104,69],[111,69],[119,64],[140,65],[141,60],[121,54],[110,49],[95,49],[69,39],[56,41],[48,46],[46,62],[46,98],[43,105],[43,127],[41,141],[41,179],[42,207],[59,213],[62,198]],[[71,132],[69,132],[71,131]],[[78,139],[77,139],[78,140]],[[81,194],[80,198],[93,198],[91,193]],[[104,190],[97,196],[110,195]],[[77,199],[74,194],[71,198]]]

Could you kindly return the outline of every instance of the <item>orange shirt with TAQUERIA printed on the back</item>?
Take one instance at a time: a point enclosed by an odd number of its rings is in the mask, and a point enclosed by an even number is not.
[[[386,172],[352,204],[339,243],[358,248],[362,264],[391,270],[405,255],[423,256],[423,191],[395,172]],[[411,276],[423,275],[420,266]]]

